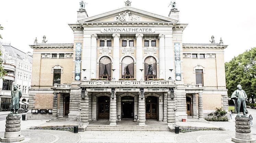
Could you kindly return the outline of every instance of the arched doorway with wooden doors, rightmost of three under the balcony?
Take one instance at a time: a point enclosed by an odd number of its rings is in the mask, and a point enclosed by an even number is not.
[[[154,96],[146,97],[146,118],[147,119],[156,119],[157,118],[157,107],[158,107],[158,98]]]

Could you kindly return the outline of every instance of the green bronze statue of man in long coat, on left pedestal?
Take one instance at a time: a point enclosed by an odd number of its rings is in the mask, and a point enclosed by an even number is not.
[[[20,108],[20,99],[22,97],[21,90],[18,89],[17,85],[13,85],[12,98],[11,98],[11,113],[18,114],[18,109]]]

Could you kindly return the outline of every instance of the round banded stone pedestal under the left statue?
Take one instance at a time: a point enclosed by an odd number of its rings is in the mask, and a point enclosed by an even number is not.
[[[24,136],[21,135],[21,116],[18,114],[8,114],[5,121],[4,138],[1,138],[1,142],[19,142],[24,140]]]

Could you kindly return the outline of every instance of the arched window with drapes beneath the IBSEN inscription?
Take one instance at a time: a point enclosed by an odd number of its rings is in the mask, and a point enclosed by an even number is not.
[[[99,77],[111,80],[111,59],[109,57],[102,57],[100,59]]]

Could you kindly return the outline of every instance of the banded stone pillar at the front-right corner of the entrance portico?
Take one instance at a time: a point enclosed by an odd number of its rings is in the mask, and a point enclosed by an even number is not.
[[[171,93],[167,95],[167,124],[172,125],[175,121],[175,98],[171,99]]]

